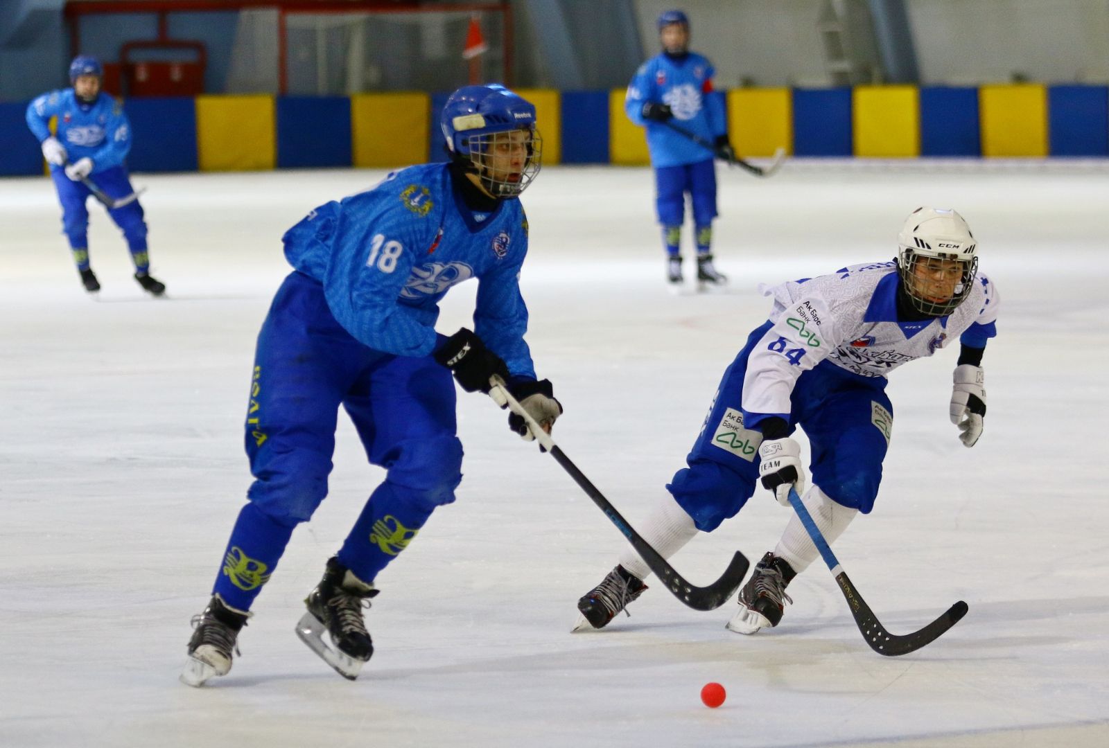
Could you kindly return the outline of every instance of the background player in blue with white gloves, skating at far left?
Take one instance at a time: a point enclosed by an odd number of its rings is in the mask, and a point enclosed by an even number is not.
[[[72,88],[44,93],[27,107],[27,126],[39,139],[50,164],[50,177],[62,203],[62,227],[73,250],[81,283],[90,293],[100,281],[89,265],[89,211],[91,181],[105,195],[122,198],[134,194],[123,160],[131,151],[131,125],[123,106],[101,90],[104,70],[94,58],[80,55],[70,63]],[[50,133],[50,117],[58,117],[58,134]],[[108,215],[123,230],[135,266],[135,280],[154,296],[165,284],[150,275],[146,223],[138,199],[109,208]]]

